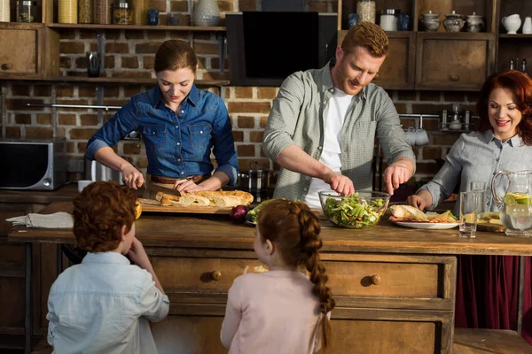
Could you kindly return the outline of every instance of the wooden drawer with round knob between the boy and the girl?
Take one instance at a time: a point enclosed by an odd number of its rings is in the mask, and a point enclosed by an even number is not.
[[[246,266],[253,271],[260,262],[237,258],[151,258],[165,290],[228,291]]]

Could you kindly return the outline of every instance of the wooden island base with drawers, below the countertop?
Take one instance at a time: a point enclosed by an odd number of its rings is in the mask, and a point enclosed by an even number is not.
[[[254,253],[146,251],[170,299],[168,319],[153,326],[160,353],[225,353],[218,338],[227,291],[246,266],[259,265]],[[332,347],[324,352],[450,353],[455,257],[325,252],[321,258],[337,304]]]

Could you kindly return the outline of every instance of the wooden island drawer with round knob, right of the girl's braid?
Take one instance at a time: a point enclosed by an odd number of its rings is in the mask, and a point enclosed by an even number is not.
[[[456,258],[395,255],[322,255],[337,304],[451,310]]]

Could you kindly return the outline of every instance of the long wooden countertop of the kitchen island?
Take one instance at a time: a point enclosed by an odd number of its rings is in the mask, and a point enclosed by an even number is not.
[[[42,213],[71,212],[72,204],[59,202]],[[235,225],[228,215],[144,212],[136,221],[137,238],[152,247],[193,247],[252,250],[254,227]],[[502,233],[477,232],[475,239],[458,237],[458,228],[423,230],[398,227],[387,219],[365,229],[333,227],[322,221],[323,250],[412,254],[485,254],[532,256],[532,239]],[[18,242],[74,242],[71,230],[16,228],[9,239]]]

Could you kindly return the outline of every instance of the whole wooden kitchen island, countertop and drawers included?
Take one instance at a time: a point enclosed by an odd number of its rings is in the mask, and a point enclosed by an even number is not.
[[[71,208],[60,202],[42,212]],[[227,290],[246,266],[259,265],[254,227],[234,225],[227,215],[149,213],[136,227],[171,304],[168,319],[153,326],[160,353],[225,353],[219,334]],[[327,353],[450,353],[457,255],[532,255],[532,239],[483,232],[461,239],[457,229],[401,228],[386,220],[364,230],[324,222],[322,237],[337,304]],[[74,235],[16,227],[8,240],[73,243]]]

